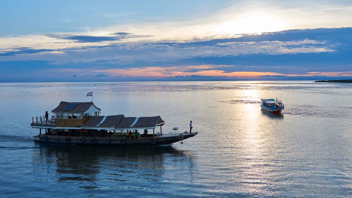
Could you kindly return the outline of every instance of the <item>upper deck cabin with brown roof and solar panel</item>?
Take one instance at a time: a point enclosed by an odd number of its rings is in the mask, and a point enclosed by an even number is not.
[[[61,101],[51,113],[57,127],[80,127],[89,120],[90,116],[99,116],[100,110],[93,102]]]

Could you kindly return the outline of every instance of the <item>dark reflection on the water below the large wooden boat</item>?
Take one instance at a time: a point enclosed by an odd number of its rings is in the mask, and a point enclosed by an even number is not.
[[[49,148],[44,147],[43,143],[35,144],[39,145],[39,148],[33,152],[33,161],[41,164],[36,171],[45,171],[49,178],[66,183],[62,184],[63,186],[69,183],[69,187],[82,190],[93,188],[159,190],[159,187],[153,186],[153,181],[160,182],[172,177],[168,175],[171,172],[171,175],[189,175],[194,167],[193,154],[170,146],[124,148],[53,144],[53,147]],[[187,176],[187,180],[190,179],[192,177]],[[128,192],[122,194],[127,195],[126,193],[128,194]]]

